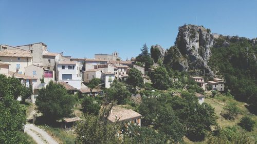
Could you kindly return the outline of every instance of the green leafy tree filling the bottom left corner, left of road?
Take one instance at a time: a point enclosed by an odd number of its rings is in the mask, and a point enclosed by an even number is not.
[[[26,109],[6,95],[0,100],[0,143],[28,143],[19,131],[26,124]]]

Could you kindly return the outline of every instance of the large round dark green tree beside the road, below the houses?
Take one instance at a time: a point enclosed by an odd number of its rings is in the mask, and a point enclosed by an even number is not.
[[[60,84],[50,81],[46,89],[39,91],[35,102],[38,111],[42,112],[45,118],[57,120],[72,113],[75,104],[75,97],[68,95],[66,89]]]

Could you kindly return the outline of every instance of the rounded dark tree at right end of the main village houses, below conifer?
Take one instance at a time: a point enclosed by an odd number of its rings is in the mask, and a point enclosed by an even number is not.
[[[135,90],[137,86],[142,87],[143,85],[142,73],[136,68],[131,68],[130,72],[128,72],[126,83],[128,85],[133,86]]]

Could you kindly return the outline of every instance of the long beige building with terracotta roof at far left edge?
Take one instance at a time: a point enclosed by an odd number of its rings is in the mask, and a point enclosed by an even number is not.
[[[25,50],[0,51],[0,61],[9,64],[9,71],[25,73],[25,67],[32,65],[32,55]]]

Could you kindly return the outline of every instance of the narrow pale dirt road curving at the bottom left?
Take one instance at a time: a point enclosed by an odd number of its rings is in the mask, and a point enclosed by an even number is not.
[[[26,124],[24,131],[30,135],[38,144],[58,144],[58,142],[56,142],[56,140],[54,140],[49,134],[33,124]]]

